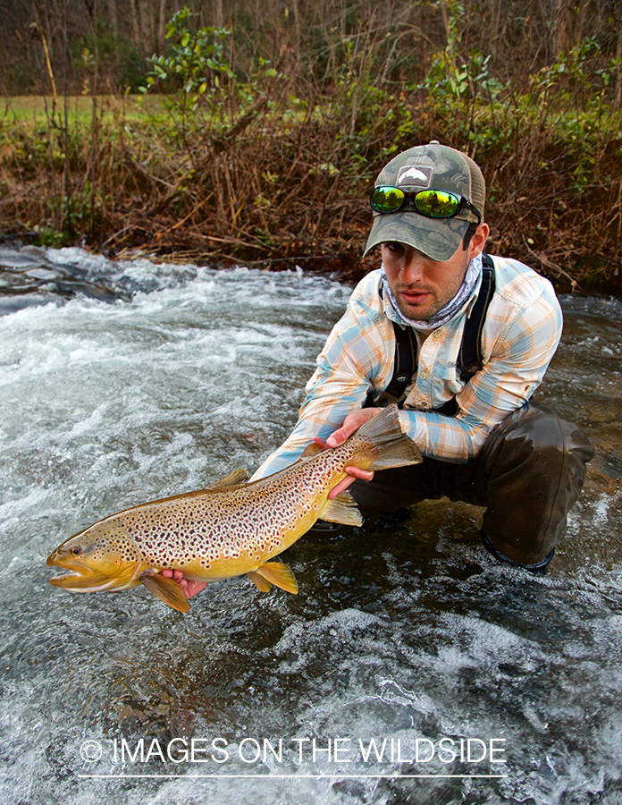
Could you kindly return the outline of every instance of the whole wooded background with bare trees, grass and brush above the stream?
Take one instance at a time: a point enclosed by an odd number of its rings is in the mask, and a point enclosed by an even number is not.
[[[440,140],[487,250],[622,292],[618,0],[0,0],[0,239],[356,279],[369,191]]]

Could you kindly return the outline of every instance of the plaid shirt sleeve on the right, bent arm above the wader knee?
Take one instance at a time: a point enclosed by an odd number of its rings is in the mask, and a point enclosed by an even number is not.
[[[471,461],[492,428],[540,386],[561,328],[557,297],[552,290],[543,293],[501,328],[490,359],[456,395],[457,416],[404,410],[399,413],[402,429],[424,455],[447,462]]]

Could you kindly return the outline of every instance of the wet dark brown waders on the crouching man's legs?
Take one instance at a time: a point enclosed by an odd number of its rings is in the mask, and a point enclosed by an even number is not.
[[[447,496],[484,506],[483,545],[498,559],[546,567],[576,502],[594,449],[584,433],[539,402],[527,402],[492,431],[472,462],[424,458],[376,472],[349,491],[366,521]]]

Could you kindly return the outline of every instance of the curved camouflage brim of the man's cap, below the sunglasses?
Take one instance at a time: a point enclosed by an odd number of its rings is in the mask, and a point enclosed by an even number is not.
[[[469,221],[461,218],[426,218],[414,212],[375,215],[364,256],[380,243],[407,243],[438,262],[449,260],[465,236]]]

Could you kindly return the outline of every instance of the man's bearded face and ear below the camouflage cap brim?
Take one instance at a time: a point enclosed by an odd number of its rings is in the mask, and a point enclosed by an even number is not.
[[[483,249],[487,235],[488,226],[478,226],[468,248],[460,244],[443,262],[406,243],[382,243],[382,262],[401,313],[416,321],[427,321],[438,313],[458,293],[466,268]]]

